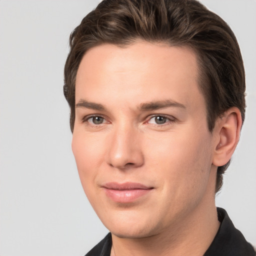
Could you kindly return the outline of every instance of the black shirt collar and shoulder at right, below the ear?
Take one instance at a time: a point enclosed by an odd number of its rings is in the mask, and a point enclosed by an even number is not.
[[[217,208],[218,220],[221,222],[216,236],[204,256],[255,256],[255,251],[242,233],[237,230],[226,211]]]

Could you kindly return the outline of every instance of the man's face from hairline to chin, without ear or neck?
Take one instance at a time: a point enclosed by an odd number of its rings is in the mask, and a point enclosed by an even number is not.
[[[72,150],[83,189],[119,237],[178,228],[214,200],[213,136],[188,48],[89,49],[76,77]]]

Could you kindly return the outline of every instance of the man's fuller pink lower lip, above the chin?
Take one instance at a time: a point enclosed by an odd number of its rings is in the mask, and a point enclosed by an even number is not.
[[[146,195],[152,189],[127,189],[127,190],[117,190],[104,188],[106,195],[115,202],[128,203],[133,202],[136,199]]]

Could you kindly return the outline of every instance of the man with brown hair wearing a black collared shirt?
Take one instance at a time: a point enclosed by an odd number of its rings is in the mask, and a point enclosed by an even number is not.
[[[86,255],[254,255],[215,207],[244,120],[228,25],[195,0],[103,0],[70,36],[72,150],[110,233]]]

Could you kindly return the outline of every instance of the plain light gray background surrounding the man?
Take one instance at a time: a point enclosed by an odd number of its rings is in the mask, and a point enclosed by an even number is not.
[[[203,0],[235,32],[247,112],[216,197],[256,245],[256,1]],[[98,0],[0,0],[0,255],[84,255],[107,230],[83,193],[62,93],[68,36]]]

